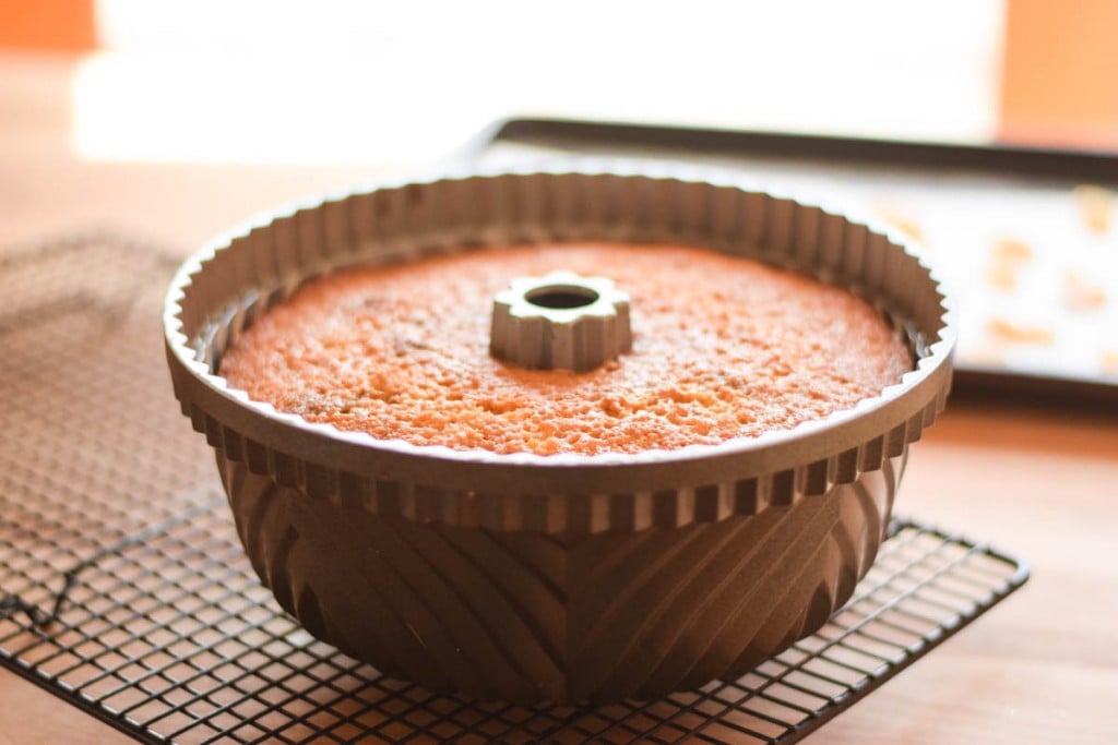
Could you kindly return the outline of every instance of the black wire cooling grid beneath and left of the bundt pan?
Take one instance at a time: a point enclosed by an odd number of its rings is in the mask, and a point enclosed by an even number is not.
[[[105,237],[0,255],[0,663],[139,739],[790,743],[1027,577],[894,522],[854,598],[738,680],[524,708],[383,677],[252,572],[160,359],[173,262]]]

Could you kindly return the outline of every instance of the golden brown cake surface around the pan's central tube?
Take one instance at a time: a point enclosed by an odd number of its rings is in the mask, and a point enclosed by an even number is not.
[[[493,296],[556,269],[628,293],[629,353],[585,373],[491,356]],[[240,335],[220,373],[281,411],[379,439],[594,455],[788,429],[911,366],[902,336],[841,288],[695,248],[584,242],[318,279]]]

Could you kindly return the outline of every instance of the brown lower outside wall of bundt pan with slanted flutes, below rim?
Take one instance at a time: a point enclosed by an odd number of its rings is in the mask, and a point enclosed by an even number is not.
[[[520,704],[656,698],[814,632],[872,564],[902,462],[719,523],[550,535],[311,502],[218,452],[256,573],[311,633],[388,675]]]

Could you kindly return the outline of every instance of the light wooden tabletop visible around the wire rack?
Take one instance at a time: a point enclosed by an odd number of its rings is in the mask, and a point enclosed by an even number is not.
[[[385,172],[85,162],[68,146],[72,71],[0,56],[0,249],[85,229],[187,249]],[[1032,580],[808,742],[1118,742],[1118,417],[955,400],[916,446],[898,512],[1024,557]],[[72,742],[127,739],[0,671],[0,745]]]

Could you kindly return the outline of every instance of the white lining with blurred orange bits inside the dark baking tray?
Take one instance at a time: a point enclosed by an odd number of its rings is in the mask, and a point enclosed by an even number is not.
[[[642,154],[498,142],[482,163],[609,153]],[[666,149],[655,156],[740,171],[912,233],[960,298],[960,367],[1118,384],[1118,182]]]

